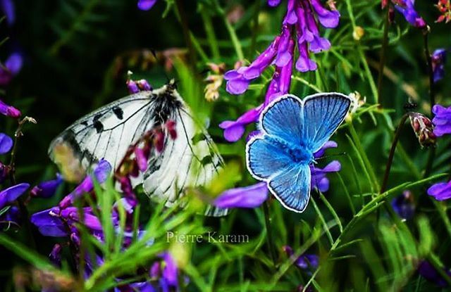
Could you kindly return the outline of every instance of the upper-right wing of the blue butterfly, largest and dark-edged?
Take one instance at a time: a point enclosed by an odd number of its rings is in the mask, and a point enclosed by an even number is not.
[[[314,94],[304,99],[302,141],[312,152],[319,149],[345,120],[351,99],[344,94]]]

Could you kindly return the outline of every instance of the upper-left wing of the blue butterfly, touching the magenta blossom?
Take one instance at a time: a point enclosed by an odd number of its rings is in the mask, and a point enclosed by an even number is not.
[[[269,135],[273,135],[299,144],[302,141],[302,101],[296,96],[286,95],[271,103],[261,114],[261,127]]]

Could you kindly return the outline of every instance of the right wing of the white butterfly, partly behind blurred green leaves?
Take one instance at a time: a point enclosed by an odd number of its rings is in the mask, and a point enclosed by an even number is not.
[[[163,152],[144,174],[144,191],[172,205],[186,187],[205,186],[223,167],[209,134],[197,125],[185,107],[175,111],[177,139],[167,139]],[[206,215],[223,216],[226,209],[209,206]]]

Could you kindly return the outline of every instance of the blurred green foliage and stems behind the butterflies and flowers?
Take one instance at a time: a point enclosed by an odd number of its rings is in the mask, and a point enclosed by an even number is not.
[[[244,15],[231,25],[242,52],[252,61],[279,33],[285,14],[285,4],[269,8],[266,1],[183,1],[193,39],[200,46],[197,63],[190,67],[176,61],[168,72],[180,82],[182,96],[199,113],[209,119],[209,132],[223,157],[232,165],[228,179],[238,185],[254,183],[244,164],[245,141],[228,144],[222,137],[218,123],[233,120],[241,113],[263,101],[266,85],[272,72],[254,82],[242,96],[230,96],[224,87],[220,99],[214,103],[204,100],[202,70],[207,62],[226,63],[228,69],[237,61],[236,44],[231,42],[226,13],[236,5],[244,8]],[[433,1],[417,1],[417,11],[431,25],[429,45],[433,49],[450,48],[450,25],[435,24],[438,13]],[[38,120],[27,126],[18,145],[17,176],[20,182],[36,184],[54,176],[56,168],[47,158],[51,139],[71,122],[102,104],[127,95],[126,71],[134,77],[144,77],[154,86],[166,82],[161,66],[145,70],[140,60],[128,57],[128,52],[142,49],[185,47],[183,25],[180,24],[173,1],[158,1],[151,11],[139,11],[135,1],[17,1],[17,23],[6,27],[2,23],[2,37],[10,37],[1,49],[1,59],[13,48],[20,48],[25,65],[20,74],[5,89],[4,100],[20,108],[25,115]],[[422,179],[428,150],[420,148],[409,126],[402,132],[400,144],[390,174],[389,191],[379,194],[388,151],[397,122],[404,114],[403,106],[409,96],[416,99],[419,112],[430,116],[428,76],[421,31],[410,27],[402,15],[396,13],[390,27],[386,65],[395,75],[395,81],[383,80],[382,108],[376,103],[375,84],[377,64],[383,35],[383,13],[380,1],[338,0],[342,17],[340,26],[328,30],[326,36],[332,49],[315,56],[321,70],[295,72],[291,93],[306,96],[319,91],[341,91],[349,94],[359,91],[366,96],[366,105],[352,122],[342,125],[333,137],[338,150],[345,153],[321,160],[338,159],[342,164],[339,174],[331,174],[330,190],[313,193],[307,211],[296,214],[284,210],[276,201],[270,204],[271,234],[276,250],[276,267],[267,245],[263,209],[235,210],[221,220],[194,215],[185,210],[170,215],[173,210],[159,210],[141,198],[140,221],[147,224],[155,244],[145,248],[145,241],[136,241],[126,252],[117,248],[121,236],[111,236],[105,247],[107,255],[100,272],[80,290],[102,291],[116,285],[114,279],[133,279],[137,267],[171,248],[180,260],[183,272],[190,277],[186,291],[295,291],[297,286],[310,286],[317,291],[431,291],[438,289],[416,273],[419,260],[428,259],[436,267],[449,267],[451,224],[449,203],[437,203],[426,194],[431,182],[445,180],[450,172],[450,139],[438,141],[433,176]],[[350,17],[350,12],[353,17]],[[163,17],[163,14],[165,15]],[[351,21],[353,18],[354,23]],[[254,20],[259,20],[255,23]],[[352,38],[354,25],[364,28],[365,34],[357,42]],[[212,32],[212,34],[209,34]],[[214,41],[214,42],[212,42]],[[118,68],[117,60],[123,60]],[[447,82],[451,68],[446,66],[445,80],[436,87],[437,101],[451,104],[451,86]],[[409,87],[412,91],[407,92]],[[1,119],[5,132],[13,134],[15,125]],[[249,127],[250,129],[251,127]],[[368,175],[366,175],[368,173]],[[72,186],[64,186],[51,199],[35,199],[28,206],[30,214],[55,205]],[[400,195],[404,189],[414,193],[416,216],[407,222],[385,210],[384,202]],[[118,196],[112,187],[101,193],[99,203],[105,216],[111,210],[106,197]],[[161,208],[160,208],[161,209]],[[150,218],[150,219],[149,219]],[[169,218],[168,220],[163,220]],[[108,224],[104,220],[104,224]],[[105,227],[108,230],[109,227]],[[166,230],[180,233],[199,233],[218,230],[223,234],[248,234],[249,243],[199,243],[175,245],[166,243]],[[1,291],[13,291],[13,271],[30,265],[50,269],[45,256],[52,243],[32,229],[36,246],[27,242],[23,229],[9,229],[0,235]],[[84,244],[96,245],[84,233]],[[119,242],[119,243],[118,243]],[[282,251],[285,245],[295,248],[297,255],[316,253],[321,257],[320,267],[307,273],[292,265],[292,259]],[[116,246],[116,248],[110,248]],[[5,248],[6,247],[6,248]],[[70,255],[67,254],[67,258]],[[78,279],[68,265],[63,272]],[[78,280],[77,280],[78,281]],[[448,279],[449,281],[449,279]],[[39,289],[35,284],[32,289]]]

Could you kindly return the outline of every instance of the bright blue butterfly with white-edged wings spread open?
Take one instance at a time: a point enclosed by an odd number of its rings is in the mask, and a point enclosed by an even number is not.
[[[288,210],[304,212],[310,198],[314,153],[345,120],[351,98],[339,93],[314,94],[304,101],[285,95],[260,115],[260,133],[247,142],[247,169]]]

